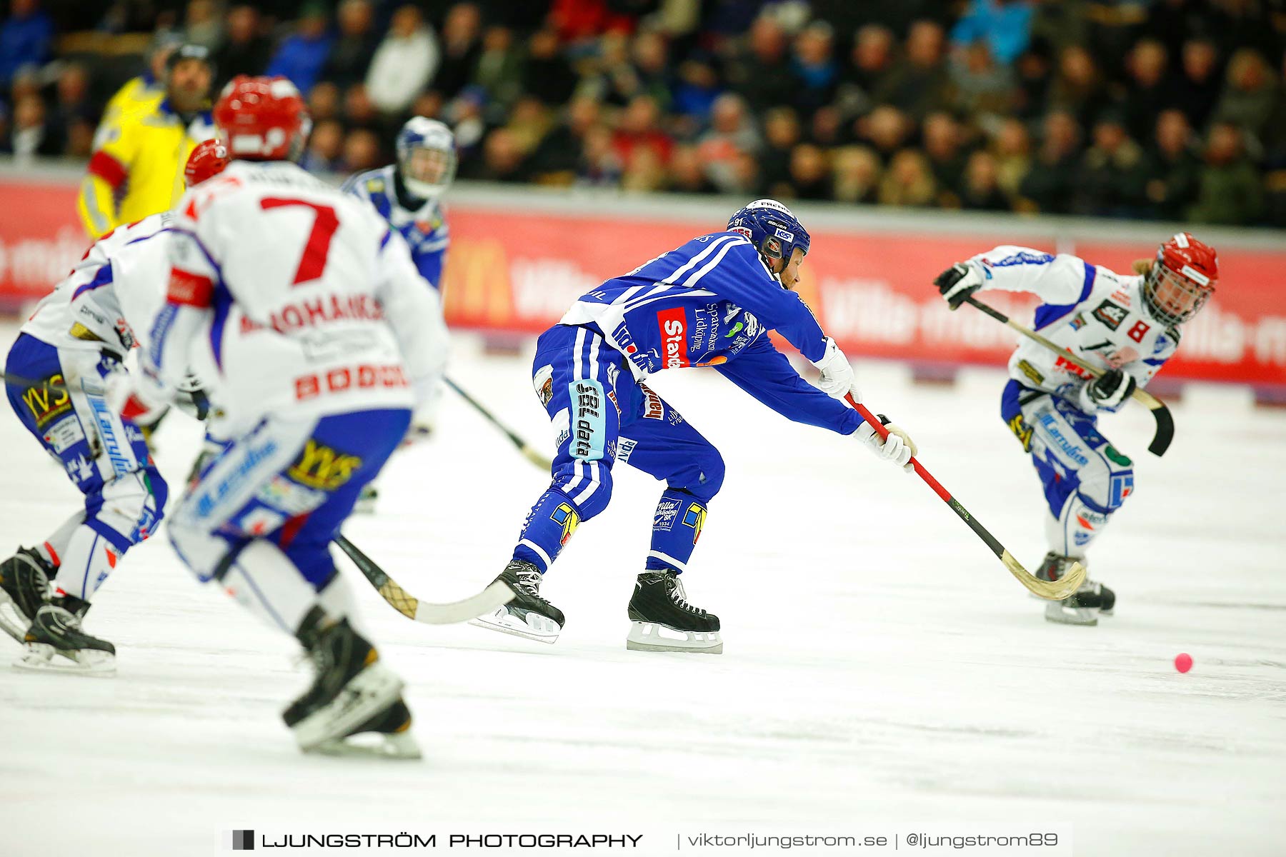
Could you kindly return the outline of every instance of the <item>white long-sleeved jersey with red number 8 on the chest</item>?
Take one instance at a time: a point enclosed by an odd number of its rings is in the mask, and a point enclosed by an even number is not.
[[[1147,385],[1179,347],[1178,329],[1148,312],[1142,276],[1121,276],[1066,253],[1012,245],[979,253],[970,263],[983,271],[980,292],[1035,294],[1044,301],[1034,321],[1042,335],[1092,366],[1128,371],[1139,387]],[[1071,401],[1088,376],[1030,339],[1019,342],[1010,375],[1024,387]]]

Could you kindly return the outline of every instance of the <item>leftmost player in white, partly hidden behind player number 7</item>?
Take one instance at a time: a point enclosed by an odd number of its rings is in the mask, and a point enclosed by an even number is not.
[[[225,162],[220,144],[202,143],[188,158],[186,185]],[[9,403],[85,495],[85,508],[45,541],[0,563],[0,627],[24,645],[18,667],[114,669],[116,648],[80,623],[125,552],[156,532],[167,490],[144,442],[148,415],[117,414],[104,394],[108,379],[125,371],[130,349],[145,344],[165,303],[172,220],[168,212],[152,215],[99,239],[40,302],[9,351]],[[185,398],[190,405],[190,394]]]

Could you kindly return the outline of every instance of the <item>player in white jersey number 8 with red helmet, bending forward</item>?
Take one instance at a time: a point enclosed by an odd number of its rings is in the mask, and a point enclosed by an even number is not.
[[[1075,256],[997,247],[943,271],[935,284],[954,310],[975,292],[1031,292],[1044,305],[1035,329],[1105,374],[1097,380],[1037,342],[1010,358],[1001,415],[1022,443],[1044,487],[1049,552],[1037,576],[1058,579],[1134,493],[1134,466],[1098,432],[1098,414],[1115,411],[1145,387],[1179,347],[1179,325],[1214,293],[1219,261],[1188,233],[1161,244],[1154,260],[1121,276]],[[1087,564],[1088,565],[1088,564]],[[1116,595],[1085,578],[1075,595],[1051,601],[1046,618],[1097,624]]]

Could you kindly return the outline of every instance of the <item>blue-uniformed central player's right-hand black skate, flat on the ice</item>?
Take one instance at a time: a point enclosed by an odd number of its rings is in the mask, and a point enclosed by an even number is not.
[[[688,604],[676,572],[639,574],[629,613],[626,649],[723,654],[719,617]]]

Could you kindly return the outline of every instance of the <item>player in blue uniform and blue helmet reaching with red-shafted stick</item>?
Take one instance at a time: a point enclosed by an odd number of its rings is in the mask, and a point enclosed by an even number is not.
[[[584,294],[541,334],[532,382],[559,432],[553,482],[522,527],[499,579],[518,597],[475,623],[553,642],[562,612],[539,594],[541,576],[577,524],[607,508],[612,468],[630,464],[666,482],[652,543],[629,604],[630,649],[723,650],[719,618],[687,603],[688,568],[706,509],[723,483],[718,450],[646,379],[665,369],[710,366],[797,423],[855,434],[880,456],[909,466],[916,446],[889,439],[838,397],[856,389],[853,369],[793,292],[809,235],[781,203],[759,199],[728,221]],[[768,338],[777,330],[822,371],[800,378]]]

